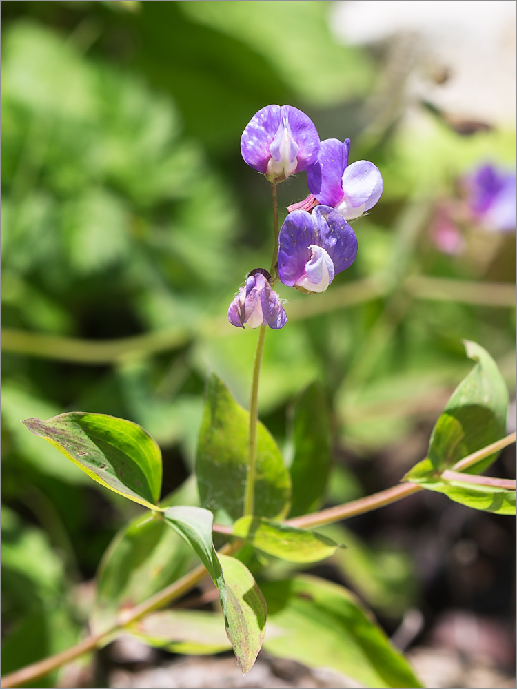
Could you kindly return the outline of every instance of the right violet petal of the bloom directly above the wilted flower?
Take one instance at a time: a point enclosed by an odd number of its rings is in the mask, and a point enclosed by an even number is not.
[[[316,206],[311,217],[316,225],[312,244],[323,247],[327,251],[332,258],[334,272],[337,275],[352,265],[357,256],[357,238],[354,230],[337,211],[329,206]]]

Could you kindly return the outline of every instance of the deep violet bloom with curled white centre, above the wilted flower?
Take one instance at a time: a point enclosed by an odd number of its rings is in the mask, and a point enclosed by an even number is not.
[[[285,218],[278,239],[278,276],[303,292],[324,292],[354,263],[357,238],[340,214],[326,205],[295,210]]]

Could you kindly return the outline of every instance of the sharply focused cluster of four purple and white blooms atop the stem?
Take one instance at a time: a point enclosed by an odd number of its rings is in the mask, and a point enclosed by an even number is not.
[[[307,115],[290,105],[267,105],[248,123],[241,153],[250,167],[274,185],[307,171],[310,194],[287,208],[278,236],[278,278],[306,294],[325,291],[334,276],[352,265],[357,238],[347,220],[360,218],[383,193],[383,179],[373,163],[348,165],[350,140],[320,141]],[[276,278],[255,269],[228,309],[232,325],[278,329],[287,316],[272,289]]]

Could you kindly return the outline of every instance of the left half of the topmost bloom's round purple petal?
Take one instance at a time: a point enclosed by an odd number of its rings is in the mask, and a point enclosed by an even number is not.
[[[254,114],[241,136],[241,154],[245,162],[264,174],[271,158],[270,145],[280,124],[280,105],[266,105]]]

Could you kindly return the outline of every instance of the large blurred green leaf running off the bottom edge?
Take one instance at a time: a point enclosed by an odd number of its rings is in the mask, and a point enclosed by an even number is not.
[[[366,687],[422,686],[372,614],[343,586],[307,575],[261,586],[268,610],[267,652],[333,668]]]

